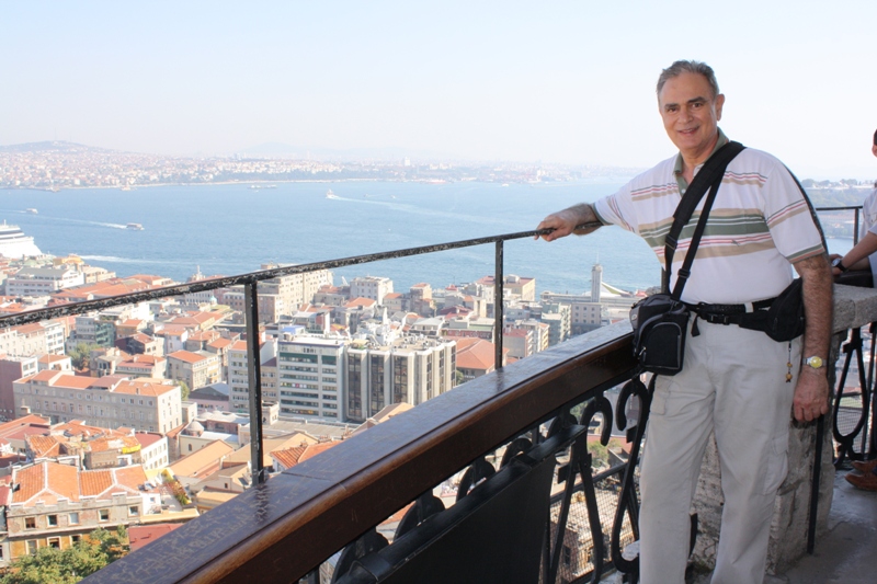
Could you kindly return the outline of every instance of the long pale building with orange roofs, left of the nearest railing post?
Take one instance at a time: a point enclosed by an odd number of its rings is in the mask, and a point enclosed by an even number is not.
[[[16,412],[33,412],[53,423],[87,420],[100,427],[162,434],[182,423],[180,386],[162,379],[79,377],[47,370],[15,381],[13,394]]]

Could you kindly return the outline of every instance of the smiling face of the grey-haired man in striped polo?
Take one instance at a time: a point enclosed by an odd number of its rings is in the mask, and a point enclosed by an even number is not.
[[[718,122],[725,95],[713,98],[709,83],[702,75],[684,72],[664,83],[658,106],[664,129],[683,158],[703,162],[713,152],[718,139]]]

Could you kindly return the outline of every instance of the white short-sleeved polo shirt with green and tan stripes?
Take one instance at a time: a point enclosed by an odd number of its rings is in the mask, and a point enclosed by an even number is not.
[[[674,172],[676,162],[673,157],[659,163],[594,204],[604,225],[641,236],[662,267],[664,238],[685,186]],[[706,196],[680,234],[671,289],[705,201]],[[791,282],[793,263],[824,252],[807,201],[788,170],[767,152],[747,148],[725,171],[682,299],[741,304],[773,298]]]

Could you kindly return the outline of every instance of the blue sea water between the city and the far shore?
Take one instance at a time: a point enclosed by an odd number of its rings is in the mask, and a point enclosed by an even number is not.
[[[119,276],[185,280],[254,272],[261,264],[311,263],[365,253],[528,231],[549,213],[613,193],[618,183],[298,182],[198,186],[0,190],[0,220],[19,225],[44,253],[80,255]],[[331,190],[334,197],[328,198]],[[37,215],[24,209],[35,208]],[[140,224],[143,231],[128,229]],[[843,253],[850,240],[832,239]],[[637,236],[604,228],[546,243],[523,239],[504,249],[506,274],[536,277],[538,291],[590,289],[603,280],[635,290],[659,283],[660,264]],[[397,290],[472,282],[494,271],[494,245],[334,270],[350,280],[387,276]]]

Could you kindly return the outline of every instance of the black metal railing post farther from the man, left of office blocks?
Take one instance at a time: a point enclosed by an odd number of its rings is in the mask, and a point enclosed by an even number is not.
[[[262,445],[262,366],[259,358],[259,293],[257,282],[243,287],[247,318],[247,375],[250,389],[250,458],[253,484],[265,482]]]

